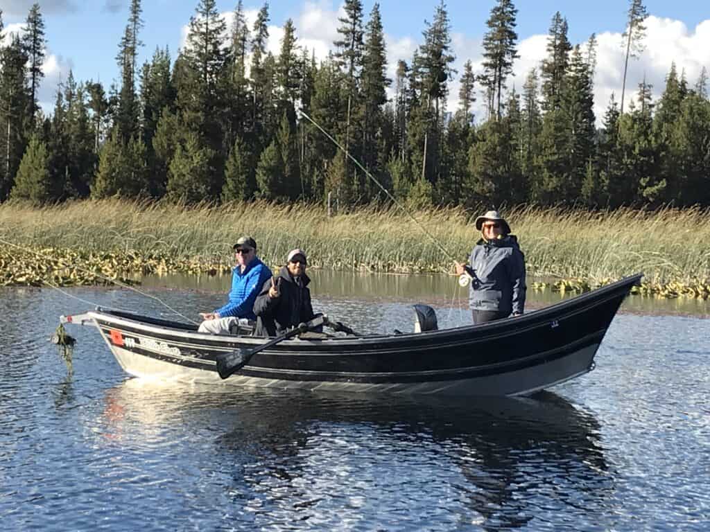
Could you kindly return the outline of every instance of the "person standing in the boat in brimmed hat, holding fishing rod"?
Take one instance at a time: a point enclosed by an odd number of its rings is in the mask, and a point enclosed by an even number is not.
[[[476,218],[481,238],[471,251],[470,267],[454,262],[462,275],[473,270],[469,307],[474,323],[487,323],[508,316],[520,316],[525,309],[525,256],[518,238],[498,211]]]

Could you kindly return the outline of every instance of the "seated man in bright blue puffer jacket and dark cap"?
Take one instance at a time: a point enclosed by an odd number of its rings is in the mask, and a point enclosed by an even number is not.
[[[256,241],[242,236],[234,244],[236,266],[231,273],[229,301],[214,312],[201,312],[204,320],[198,332],[229,334],[229,327],[239,318],[256,320],[254,301],[263,284],[271,278],[271,270],[256,256]]]

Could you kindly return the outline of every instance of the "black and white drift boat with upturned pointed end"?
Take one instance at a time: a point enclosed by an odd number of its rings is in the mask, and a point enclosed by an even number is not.
[[[60,321],[96,326],[121,367],[138,377],[351,392],[527,395],[594,368],[609,324],[641,277],[481,325],[392,335],[306,333],[268,348],[273,338],[198,333],[192,324],[109,309]],[[253,353],[248,362],[221,379],[218,355],[245,351]]]

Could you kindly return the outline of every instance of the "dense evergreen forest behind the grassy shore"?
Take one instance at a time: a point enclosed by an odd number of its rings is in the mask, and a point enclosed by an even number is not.
[[[177,56],[159,48],[143,65],[148,23],[141,0],[129,4],[116,82],[70,73],[50,113],[38,105],[48,44],[40,6],[21,35],[6,34],[0,12],[0,201],[323,204],[330,196],[348,211],[391,201],[369,173],[417,209],[710,206],[707,72],[688,80],[673,65],[656,101],[645,80],[626,79],[628,60],[643,52],[640,0],[629,2],[622,97],[608,101],[601,127],[596,38],[571,43],[559,12],[550,14],[546,57],[518,91],[510,87],[518,58],[512,0],[496,0],[481,21],[481,69],[468,60],[454,71],[440,0],[394,79],[378,4],[365,13],[361,0],[344,0],[339,38],[316,60],[290,19],[278,55],[268,51],[268,3],[250,25],[239,0],[228,27],[215,0],[199,0]],[[459,107],[447,109],[454,80]],[[632,89],[624,109],[623,90]],[[485,116],[474,116],[476,101]]]

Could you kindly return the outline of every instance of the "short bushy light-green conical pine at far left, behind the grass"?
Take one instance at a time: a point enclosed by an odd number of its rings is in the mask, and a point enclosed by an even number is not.
[[[57,197],[50,178],[47,145],[40,142],[36,135],[32,136],[27,145],[10,196],[34,204],[45,204]]]

